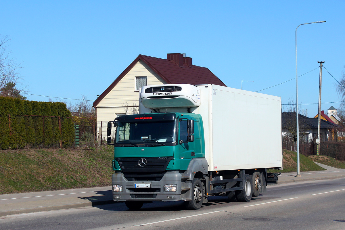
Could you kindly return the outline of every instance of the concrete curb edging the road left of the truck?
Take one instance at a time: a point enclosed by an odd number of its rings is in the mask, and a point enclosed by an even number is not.
[[[63,205],[57,205],[57,206],[24,208],[24,209],[19,209],[19,210],[0,211],[0,217],[15,215],[15,214],[32,213],[32,212],[44,212],[44,211],[54,211],[54,210],[62,210],[62,209],[73,209],[73,208],[82,208],[82,207],[89,207],[89,206],[98,206],[98,205],[102,205],[102,204],[111,204],[111,203],[115,203],[115,202],[113,200],[103,200],[103,201],[95,201],[95,202],[83,202],[83,203],[76,203],[76,204],[63,204]]]

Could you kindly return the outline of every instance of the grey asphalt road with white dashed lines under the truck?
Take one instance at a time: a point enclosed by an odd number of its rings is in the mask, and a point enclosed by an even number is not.
[[[345,229],[345,178],[269,186],[248,203],[217,197],[200,210],[182,202],[144,204],[129,211],[123,203],[36,212],[0,218],[0,230],[331,230]]]

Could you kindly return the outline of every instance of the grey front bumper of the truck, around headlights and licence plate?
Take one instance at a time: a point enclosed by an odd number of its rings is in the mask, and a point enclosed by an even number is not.
[[[149,183],[151,188],[135,188],[134,184]],[[181,174],[178,171],[167,171],[160,181],[128,181],[122,172],[112,174],[112,184],[122,185],[122,192],[112,191],[114,201],[177,201],[181,200]],[[164,192],[164,185],[176,184],[176,192]],[[120,198],[119,198],[120,197]]]

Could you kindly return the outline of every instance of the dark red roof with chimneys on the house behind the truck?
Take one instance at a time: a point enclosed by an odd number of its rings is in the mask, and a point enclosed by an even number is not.
[[[93,102],[97,104],[116,86],[117,83],[141,60],[168,84],[216,84],[226,86],[208,68],[195,66],[192,58],[183,57],[181,53],[168,53],[168,59],[155,58],[139,54],[132,63],[115,79],[114,82]]]

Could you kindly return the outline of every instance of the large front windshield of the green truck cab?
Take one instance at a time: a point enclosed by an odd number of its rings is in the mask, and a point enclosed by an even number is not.
[[[116,129],[117,144],[176,142],[176,119],[169,121],[119,123]]]

